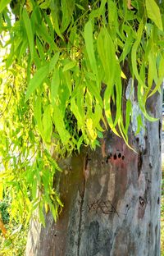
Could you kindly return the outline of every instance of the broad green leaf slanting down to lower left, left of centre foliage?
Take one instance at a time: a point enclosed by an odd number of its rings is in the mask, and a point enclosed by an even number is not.
[[[46,78],[49,72],[49,65],[45,65],[39,68],[38,71],[34,74],[33,78],[30,80],[30,83],[27,87],[25,102],[30,98],[30,95],[34,92],[35,89],[43,83],[43,80]]]

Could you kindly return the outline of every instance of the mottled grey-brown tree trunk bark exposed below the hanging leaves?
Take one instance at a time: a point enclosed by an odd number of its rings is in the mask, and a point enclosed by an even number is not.
[[[155,117],[161,106],[159,94],[148,100]],[[32,222],[26,255],[160,255],[161,127],[161,121],[146,122],[134,136],[131,126],[137,153],[108,132],[101,148],[67,159],[62,213],[57,223],[48,213],[46,228]]]

